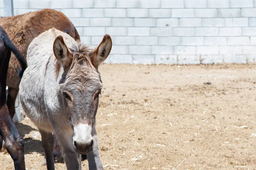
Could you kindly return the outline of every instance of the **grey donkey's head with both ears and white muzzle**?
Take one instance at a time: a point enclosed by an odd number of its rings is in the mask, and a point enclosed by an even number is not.
[[[54,55],[64,69],[60,98],[74,130],[73,147],[80,154],[87,154],[93,146],[91,132],[102,89],[98,66],[108,57],[111,47],[109,35],[105,35],[99,46],[89,54],[86,47],[79,43],[67,48],[61,36],[53,44]]]

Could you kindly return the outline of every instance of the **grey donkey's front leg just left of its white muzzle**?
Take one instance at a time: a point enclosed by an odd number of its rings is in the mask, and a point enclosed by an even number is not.
[[[73,147],[73,135],[58,133],[56,134],[58,143],[61,147],[67,170],[78,170],[79,163],[77,152]]]

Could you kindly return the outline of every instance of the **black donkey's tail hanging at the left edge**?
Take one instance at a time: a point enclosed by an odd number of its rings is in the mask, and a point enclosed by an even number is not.
[[[25,71],[25,69],[27,67],[26,59],[20,53],[20,51],[15,47],[15,45],[12,43],[12,41],[8,37],[8,35],[5,32],[5,30],[2,27],[0,29],[2,29],[2,31],[4,32],[4,34],[2,35],[2,38],[3,38],[3,41],[4,41],[4,45],[13,52],[13,54],[16,56],[16,58],[20,62],[21,69],[20,69],[20,72],[19,72],[19,76],[21,78],[22,75],[23,75],[23,72]]]

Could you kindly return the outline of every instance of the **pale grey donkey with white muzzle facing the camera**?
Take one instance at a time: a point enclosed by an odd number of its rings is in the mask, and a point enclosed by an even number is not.
[[[20,101],[41,133],[48,170],[54,169],[52,132],[67,170],[79,169],[77,153],[87,154],[90,170],[103,169],[95,129],[102,89],[98,66],[111,47],[111,37],[105,35],[89,53],[81,42],[57,29],[49,29],[29,45]]]

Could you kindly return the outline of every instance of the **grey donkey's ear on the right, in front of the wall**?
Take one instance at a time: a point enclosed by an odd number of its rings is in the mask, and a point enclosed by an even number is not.
[[[99,44],[99,46],[94,48],[89,54],[90,59],[93,63],[93,66],[98,68],[99,64],[101,64],[103,61],[106,60],[106,58],[108,58],[111,48],[112,48],[111,37],[109,35],[105,35],[103,37],[102,42]]]

